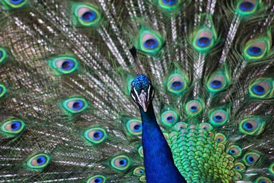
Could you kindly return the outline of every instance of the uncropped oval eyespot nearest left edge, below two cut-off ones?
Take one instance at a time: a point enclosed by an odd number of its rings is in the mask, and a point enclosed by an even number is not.
[[[21,119],[12,119],[1,125],[1,131],[7,135],[15,136],[25,129],[25,123]]]

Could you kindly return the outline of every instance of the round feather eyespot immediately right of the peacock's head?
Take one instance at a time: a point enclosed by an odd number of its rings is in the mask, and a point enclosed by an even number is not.
[[[169,92],[174,94],[180,94],[186,90],[186,86],[188,85],[188,81],[185,79],[183,75],[173,74],[169,76],[167,82],[167,89]]]

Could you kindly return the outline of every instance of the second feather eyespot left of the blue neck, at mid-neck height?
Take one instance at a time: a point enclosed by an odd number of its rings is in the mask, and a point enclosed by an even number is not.
[[[84,132],[84,137],[87,141],[90,141],[91,143],[99,144],[105,141],[107,134],[105,130],[101,127],[92,127]]]

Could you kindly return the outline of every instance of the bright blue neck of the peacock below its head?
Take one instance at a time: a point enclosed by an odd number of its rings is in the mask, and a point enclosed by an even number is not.
[[[140,108],[140,114],[147,183],[185,183],[186,180],[175,167],[171,149],[156,121],[152,103],[149,104],[147,112]]]

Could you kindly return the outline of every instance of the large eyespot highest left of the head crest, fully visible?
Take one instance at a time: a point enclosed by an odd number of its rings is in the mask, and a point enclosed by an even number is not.
[[[99,10],[93,5],[75,3],[73,6],[77,22],[83,26],[95,26],[101,19]]]

